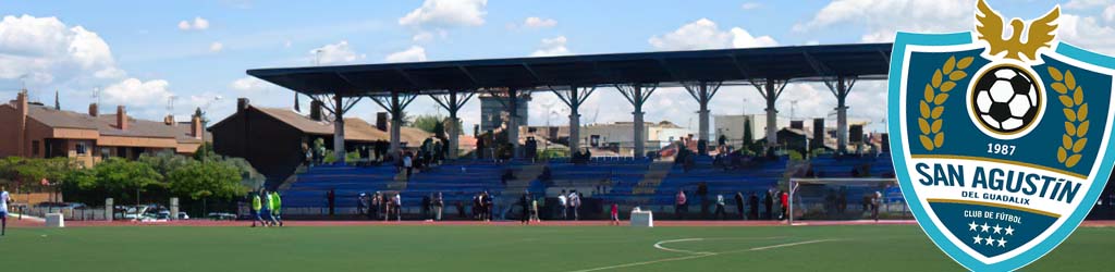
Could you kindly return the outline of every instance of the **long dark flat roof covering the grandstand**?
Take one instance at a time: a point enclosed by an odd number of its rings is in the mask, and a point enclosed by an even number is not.
[[[269,68],[248,74],[306,95],[345,97],[571,85],[748,85],[752,80],[815,81],[837,76],[883,79],[890,54],[891,43],[859,43]]]

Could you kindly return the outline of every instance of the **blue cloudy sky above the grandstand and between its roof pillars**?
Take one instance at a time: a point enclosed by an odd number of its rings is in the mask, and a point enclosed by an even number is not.
[[[1058,37],[1115,54],[1115,0],[989,0],[1007,18],[1037,18],[1059,4]],[[291,108],[294,93],[248,69],[560,56],[712,48],[890,42],[895,31],[957,32],[973,28],[975,1],[8,1],[0,0],[0,100],[26,86],[32,100],[84,111],[127,107],[129,115],[184,119],[197,107],[220,120],[236,98]],[[850,116],[883,130],[885,82],[857,82]],[[96,95],[95,95],[96,94]],[[617,104],[615,101],[623,101]],[[301,98],[302,109],[309,99]],[[173,105],[173,107],[172,107]],[[791,110],[793,105],[793,110]],[[822,84],[791,84],[779,118],[828,117],[836,99]],[[714,115],[758,114],[753,87],[725,87]],[[648,122],[696,129],[697,101],[663,88],[646,106]],[[365,100],[348,116],[374,119]],[[428,97],[407,109],[446,113]],[[614,89],[599,89],[581,108],[582,124],[630,120]],[[793,111],[793,114],[792,114]],[[304,111],[303,111],[304,113]],[[531,125],[564,125],[569,109],[536,93]],[[479,101],[460,111],[479,120]],[[793,116],[791,116],[793,115]]]

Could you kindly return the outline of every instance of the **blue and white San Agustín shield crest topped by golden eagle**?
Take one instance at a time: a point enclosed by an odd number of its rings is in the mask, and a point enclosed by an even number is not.
[[[1010,271],[1050,252],[1095,205],[1115,162],[1115,59],[1057,41],[1059,17],[1055,7],[1006,20],[980,0],[973,32],[894,41],[899,183],[922,230],[968,269]]]

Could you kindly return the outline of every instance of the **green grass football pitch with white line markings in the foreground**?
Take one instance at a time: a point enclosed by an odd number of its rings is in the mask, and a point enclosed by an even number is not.
[[[0,237],[0,271],[962,270],[913,225],[108,226],[9,231]],[[655,247],[660,241],[696,237],[705,240],[662,244],[689,252]],[[1026,270],[1109,271],[1115,265],[1113,253],[1115,229],[1082,227]],[[609,266],[614,268],[602,269]]]

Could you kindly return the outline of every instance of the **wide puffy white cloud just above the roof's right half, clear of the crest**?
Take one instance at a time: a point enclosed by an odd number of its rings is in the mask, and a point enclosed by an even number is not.
[[[770,36],[754,37],[743,28],[720,31],[716,22],[706,18],[681,26],[681,28],[678,28],[673,32],[650,37],[648,41],[659,50],[699,50],[778,45]]]

